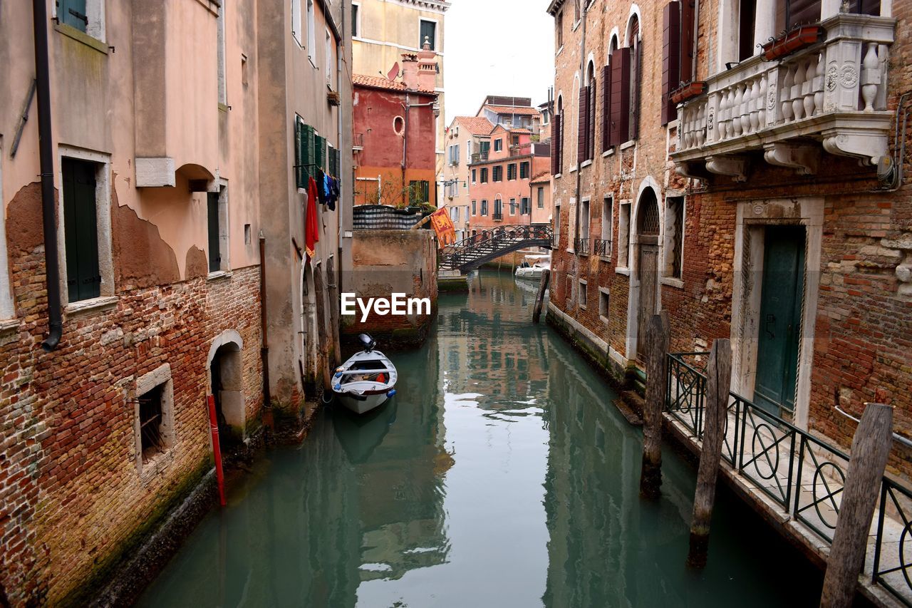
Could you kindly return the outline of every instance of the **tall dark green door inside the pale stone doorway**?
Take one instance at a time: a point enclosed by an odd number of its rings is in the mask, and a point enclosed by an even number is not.
[[[794,410],[804,290],[804,229],[767,228],[764,239],[754,402],[772,414]]]

